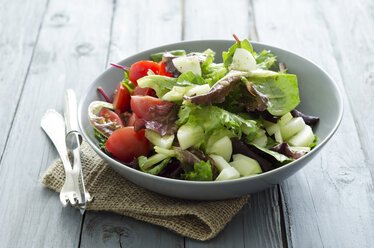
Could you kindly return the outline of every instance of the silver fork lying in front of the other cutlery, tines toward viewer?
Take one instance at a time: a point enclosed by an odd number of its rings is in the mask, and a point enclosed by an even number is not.
[[[73,169],[71,167],[68,157],[65,143],[65,120],[57,111],[50,109],[44,114],[41,127],[55,145],[64,165],[66,179],[60,191],[60,201],[64,207],[66,207],[69,202],[71,205],[76,206],[81,196],[80,193],[76,191],[77,183],[74,178],[77,178],[79,171],[78,168]]]

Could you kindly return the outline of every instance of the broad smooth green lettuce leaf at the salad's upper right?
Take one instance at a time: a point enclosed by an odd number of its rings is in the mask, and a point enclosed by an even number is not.
[[[297,77],[292,74],[276,74],[267,77],[249,77],[252,87],[268,98],[272,115],[284,115],[300,103]]]

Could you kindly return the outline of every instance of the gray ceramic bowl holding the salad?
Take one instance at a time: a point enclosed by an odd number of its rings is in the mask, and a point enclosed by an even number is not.
[[[119,64],[131,66],[131,64],[139,60],[149,59],[149,55],[155,52],[175,49],[185,49],[187,52],[192,52],[204,51],[207,48],[211,48],[217,53],[216,61],[219,61],[222,51],[227,50],[233,43],[232,40],[179,42],[138,53],[122,60]],[[319,137],[318,145],[304,157],[260,175],[219,182],[194,182],[169,179],[129,168],[110,158],[97,148],[97,141],[93,136],[93,129],[87,116],[89,104],[95,100],[102,100],[97,93],[97,87],[102,86],[106,92],[112,94],[117,83],[122,80],[123,72],[116,68],[106,70],[82,94],[78,118],[83,136],[97,154],[122,176],[139,186],[172,197],[194,200],[227,199],[258,192],[280,183],[304,167],[335,133],[343,115],[342,96],[334,80],[322,68],[310,60],[292,52],[262,43],[252,42],[252,45],[255,51],[262,51],[263,49],[271,50],[278,56],[278,61],[283,61],[287,64],[289,68],[288,72],[296,74],[298,77],[301,98],[301,104],[298,106],[298,109],[304,113],[320,117],[320,123],[314,128],[314,132]]]

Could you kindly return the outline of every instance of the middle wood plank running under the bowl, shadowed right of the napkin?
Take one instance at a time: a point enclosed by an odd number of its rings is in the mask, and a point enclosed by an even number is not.
[[[240,39],[257,39],[249,1],[186,0],[184,10],[186,40],[233,39],[233,33]],[[280,247],[282,240],[279,238],[281,227],[277,205],[277,190],[253,194],[249,204],[216,238],[208,242],[186,239],[186,247]]]

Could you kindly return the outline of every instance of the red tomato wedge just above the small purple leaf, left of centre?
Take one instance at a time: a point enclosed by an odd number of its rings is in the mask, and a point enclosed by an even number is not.
[[[131,96],[131,109],[139,117],[143,118],[149,109],[155,105],[174,105],[161,99],[151,96]]]

